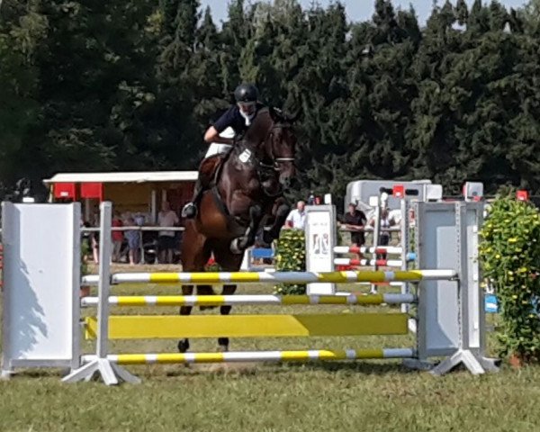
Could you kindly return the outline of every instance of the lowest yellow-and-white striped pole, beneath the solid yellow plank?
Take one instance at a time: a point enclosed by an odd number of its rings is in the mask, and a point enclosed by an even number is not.
[[[117,354],[107,360],[116,365],[166,365],[189,363],[234,362],[307,362],[311,360],[358,360],[377,358],[411,358],[412,348],[383,349],[312,349],[301,351],[238,351],[227,353],[184,354]],[[91,362],[95,356],[83,356],[83,362]]]

